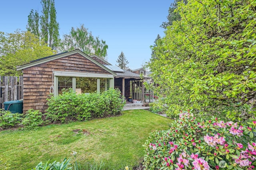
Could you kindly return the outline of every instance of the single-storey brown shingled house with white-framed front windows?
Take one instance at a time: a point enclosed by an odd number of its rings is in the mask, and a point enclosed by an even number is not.
[[[44,57],[17,67],[23,72],[23,112],[47,109],[50,93],[58,95],[62,89],[77,93],[102,92],[120,89],[128,99],[144,99],[143,80],[139,74],[122,70],[97,55],[86,55],[79,49]]]

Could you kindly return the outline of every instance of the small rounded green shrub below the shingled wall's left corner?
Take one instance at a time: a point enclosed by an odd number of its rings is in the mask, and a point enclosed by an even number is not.
[[[24,118],[20,125],[23,125],[25,129],[36,129],[40,125],[43,125],[42,113],[39,110],[29,109],[26,111]]]

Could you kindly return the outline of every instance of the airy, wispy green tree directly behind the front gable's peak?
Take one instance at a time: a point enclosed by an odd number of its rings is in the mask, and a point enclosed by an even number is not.
[[[96,54],[104,58],[107,56],[108,45],[99,37],[94,38],[92,32],[88,32],[88,29],[82,24],[80,28],[72,27],[69,34],[63,35],[59,50],[72,51],[74,49],[80,49],[87,55]]]

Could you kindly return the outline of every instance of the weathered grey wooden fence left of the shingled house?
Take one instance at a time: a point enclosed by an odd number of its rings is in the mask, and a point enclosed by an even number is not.
[[[23,99],[23,77],[0,76],[0,109],[4,102]]]

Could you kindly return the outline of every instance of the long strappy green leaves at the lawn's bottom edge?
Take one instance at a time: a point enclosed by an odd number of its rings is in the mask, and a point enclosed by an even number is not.
[[[54,161],[50,164],[48,162],[46,162],[45,164],[40,162],[35,168],[31,170],[72,170],[73,168],[69,163],[70,160],[71,158],[65,158],[62,162]]]

